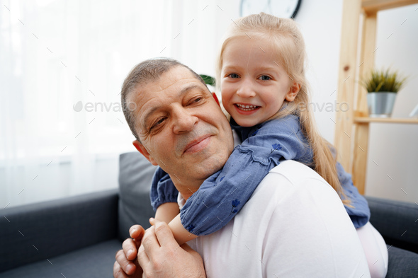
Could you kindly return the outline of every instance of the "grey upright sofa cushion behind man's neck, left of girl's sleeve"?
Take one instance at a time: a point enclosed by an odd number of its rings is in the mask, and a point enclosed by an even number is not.
[[[153,166],[138,151],[121,154],[119,157],[119,219],[118,234],[121,241],[129,237],[129,228],[140,224],[148,228],[149,217],[154,210],[149,200]]]

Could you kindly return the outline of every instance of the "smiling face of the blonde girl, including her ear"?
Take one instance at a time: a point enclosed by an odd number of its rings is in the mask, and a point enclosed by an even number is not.
[[[222,104],[235,122],[252,127],[276,115],[300,86],[274,61],[276,52],[265,39],[235,38],[222,54]]]

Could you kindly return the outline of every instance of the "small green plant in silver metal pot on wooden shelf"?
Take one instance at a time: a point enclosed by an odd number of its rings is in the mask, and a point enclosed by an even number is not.
[[[406,78],[397,71],[372,70],[368,79],[362,81],[366,87],[368,114],[370,117],[390,117],[397,92],[405,85]]]

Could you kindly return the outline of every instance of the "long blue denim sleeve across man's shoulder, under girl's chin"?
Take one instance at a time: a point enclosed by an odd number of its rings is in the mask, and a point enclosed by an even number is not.
[[[289,126],[290,127],[290,126]],[[291,125],[291,129],[295,127]],[[236,146],[222,170],[200,185],[181,209],[181,224],[197,236],[220,230],[239,212],[261,180],[281,160],[302,158],[306,144],[294,130],[261,127]]]

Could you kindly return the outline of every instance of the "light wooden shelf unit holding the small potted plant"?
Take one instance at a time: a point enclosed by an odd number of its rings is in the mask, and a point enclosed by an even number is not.
[[[343,1],[337,102],[348,103],[351,109],[336,112],[334,145],[338,150],[338,160],[347,172],[352,173],[353,183],[361,194],[364,194],[366,184],[369,124],[418,124],[418,119],[368,117],[367,91],[358,86],[356,78],[364,76],[364,73],[371,71],[374,66],[378,11],[417,3],[418,0]],[[362,35],[358,47],[360,31]]]

